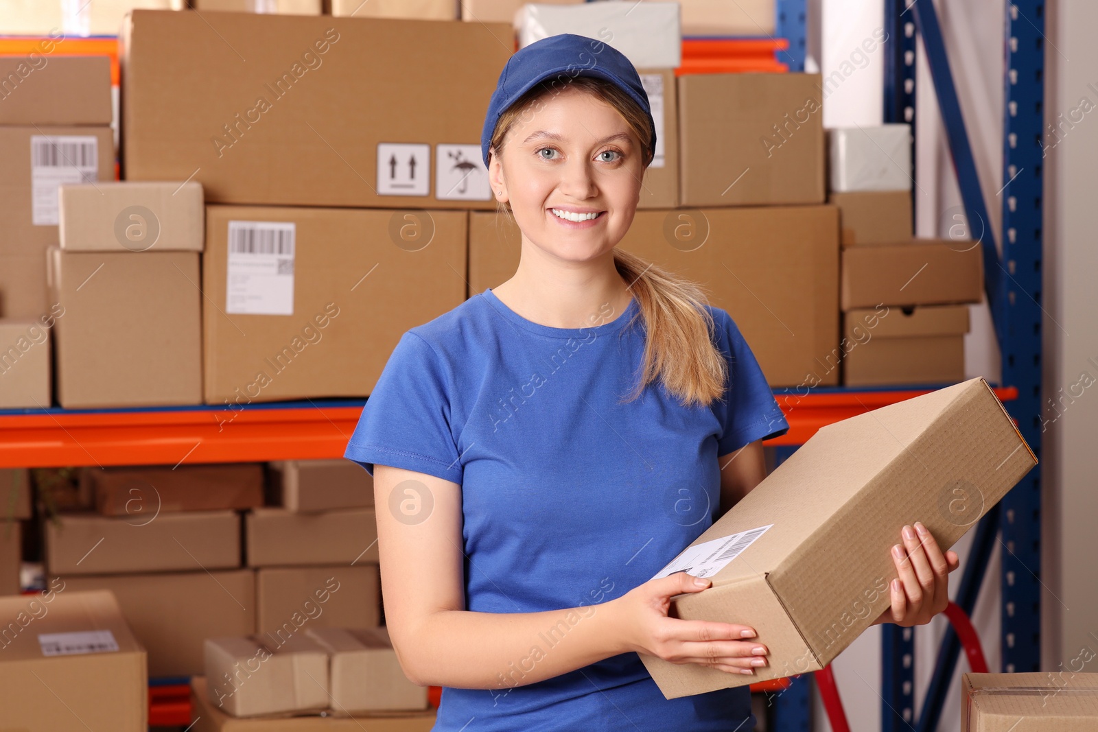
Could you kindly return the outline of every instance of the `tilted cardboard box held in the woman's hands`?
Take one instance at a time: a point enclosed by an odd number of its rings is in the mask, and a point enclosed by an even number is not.
[[[903,526],[945,550],[1035,464],[983,379],[822,427],[657,574],[709,577],[671,613],[754,628],[769,664],[645,665],[669,699],[824,667],[888,607]]]

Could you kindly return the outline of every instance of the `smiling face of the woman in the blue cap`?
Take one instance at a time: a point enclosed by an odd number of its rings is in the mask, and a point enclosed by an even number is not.
[[[512,126],[492,156],[493,193],[511,203],[534,245],[586,261],[610,251],[632,224],[641,154],[613,106],[568,87],[536,100]]]

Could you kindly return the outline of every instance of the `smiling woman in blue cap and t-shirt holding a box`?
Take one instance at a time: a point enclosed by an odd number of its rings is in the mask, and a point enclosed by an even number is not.
[[[444,687],[435,730],[752,728],[747,687],[668,700],[637,655],[766,664],[748,626],[668,617],[708,581],[651,577],[788,429],[729,315],[615,248],[654,144],[618,52],[559,35],[515,54],[482,148],[518,271],[404,334],[347,447],[374,477],[401,665]],[[928,622],[956,555],[898,545],[878,622]]]

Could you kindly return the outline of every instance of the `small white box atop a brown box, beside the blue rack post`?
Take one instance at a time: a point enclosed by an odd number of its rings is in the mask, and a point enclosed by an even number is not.
[[[910,191],[911,125],[828,129],[831,190]]]

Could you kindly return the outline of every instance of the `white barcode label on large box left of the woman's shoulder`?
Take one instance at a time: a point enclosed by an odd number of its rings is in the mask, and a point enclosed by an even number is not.
[[[293,315],[296,224],[228,222],[225,313]]]

